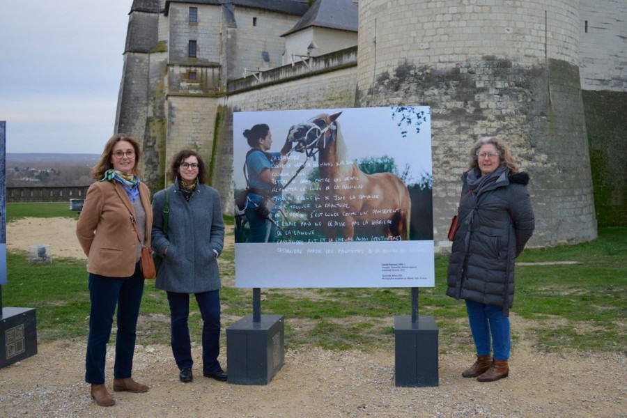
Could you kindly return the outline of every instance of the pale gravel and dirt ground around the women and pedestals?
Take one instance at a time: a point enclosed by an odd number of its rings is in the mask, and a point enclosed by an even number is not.
[[[7,225],[7,248],[49,244],[53,258],[84,258],[74,231],[72,219],[22,219]],[[203,378],[199,367],[184,384],[169,346],[138,341],[133,377],[150,392],[112,392],[117,403],[110,408],[89,396],[85,341],[42,343],[37,355],[0,369],[0,417],[627,417],[625,356],[536,353],[524,339],[525,326],[512,317],[523,338],[513,347],[509,378],[462,378],[472,353],[446,353],[439,358],[438,387],[420,388],[394,385],[392,351],[318,348],[288,350],[268,385],[217,382]],[[110,391],[113,354],[109,345]],[[220,359],[226,365],[224,346]]]

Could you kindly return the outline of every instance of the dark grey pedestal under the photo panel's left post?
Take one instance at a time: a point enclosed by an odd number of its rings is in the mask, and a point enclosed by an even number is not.
[[[245,316],[226,329],[229,383],[268,385],[283,367],[285,330],[282,315]]]

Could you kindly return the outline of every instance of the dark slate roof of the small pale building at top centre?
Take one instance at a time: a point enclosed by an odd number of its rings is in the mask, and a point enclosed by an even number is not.
[[[317,0],[295,26],[281,36],[307,29],[309,26],[357,32],[359,14],[353,0]]]

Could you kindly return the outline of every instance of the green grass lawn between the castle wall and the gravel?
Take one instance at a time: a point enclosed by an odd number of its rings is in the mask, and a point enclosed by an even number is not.
[[[65,203],[62,208],[56,203],[11,203],[8,219],[53,216],[56,206],[61,214],[56,216],[74,215]],[[233,217],[225,221],[233,225]],[[528,341],[539,351],[627,353],[627,228],[603,228],[598,235],[594,242],[522,253],[519,263],[578,263],[516,267],[514,350],[517,341]],[[233,249],[226,249],[220,260],[222,325],[226,328],[251,314],[252,292],[233,286]],[[447,257],[435,258],[435,287],[419,289],[419,314],[435,317],[443,353],[470,352],[465,305],[444,295],[447,263]],[[84,261],[55,258],[52,265],[38,265],[29,264],[25,253],[10,253],[7,269],[3,304],[37,308],[40,341],[86,336],[89,302]],[[393,350],[394,316],[410,315],[410,288],[268,288],[261,293],[263,314],[285,316],[287,348]],[[190,311],[192,339],[198,343],[201,318],[193,297]],[[154,288],[154,281],[146,282],[138,342],[169,343],[167,297]]]

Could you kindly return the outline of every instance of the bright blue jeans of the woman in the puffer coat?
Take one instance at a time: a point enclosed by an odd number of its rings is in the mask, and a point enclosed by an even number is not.
[[[503,316],[503,308],[466,300],[466,311],[477,355],[490,355],[491,336],[494,359],[509,359],[511,346],[509,318]]]

